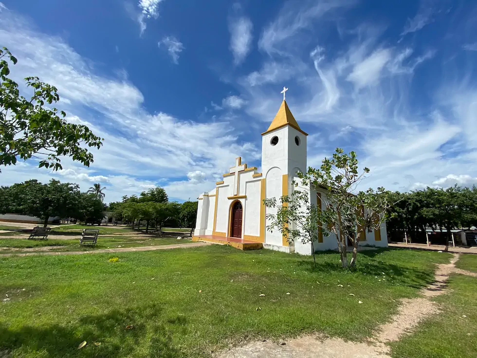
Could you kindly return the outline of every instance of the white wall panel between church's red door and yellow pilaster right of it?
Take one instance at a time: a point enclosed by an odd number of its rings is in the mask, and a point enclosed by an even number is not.
[[[244,239],[258,240],[260,236],[260,180],[244,182],[247,193],[245,217],[244,217]],[[247,238],[246,236],[255,236]]]

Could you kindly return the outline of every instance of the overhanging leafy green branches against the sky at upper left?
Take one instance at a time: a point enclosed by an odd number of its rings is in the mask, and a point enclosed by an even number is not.
[[[87,126],[68,123],[66,113],[48,105],[59,95],[54,86],[38,77],[26,77],[26,87],[34,94],[28,100],[21,96],[18,84],[10,74],[8,60],[17,59],[5,47],[0,49],[0,167],[15,165],[18,158],[27,160],[40,155],[38,167],[62,169],[61,156],[72,157],[89,167],[93,155],[88,148],[102,146],[102,138]],[[47,103],[47,107],[44,105]]]

